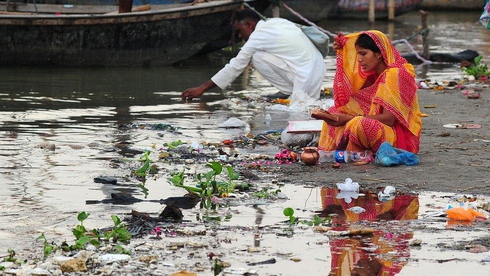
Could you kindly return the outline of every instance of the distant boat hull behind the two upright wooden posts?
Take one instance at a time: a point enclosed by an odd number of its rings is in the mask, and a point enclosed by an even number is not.
[[[395,15],[417,8],[422,0],[395,0]],[[375,0],[376,19],[388,18],[388,0]],[[368,19],[369,0],[340,0],[331,17]]]

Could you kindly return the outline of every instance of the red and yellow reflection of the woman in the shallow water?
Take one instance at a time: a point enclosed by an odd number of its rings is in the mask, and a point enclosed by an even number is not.
[[[416,196],[401,195],[394,200],[381,202],[374,193],[366,193],[351,203],[337,199],[337,189],[322,189],[322,214],[337,214],[332,217],[332,230],[347,230],[347,222],[359,220],[411,220],[417,219],[419,201]],[[355,214],[347,209],[354,206],[366,211]],[[412,233],[392,234],[381,230],[372,237],[332,239],[330,243],[332,263],[330,275],[395,275],[410,257],[408,241]],[[373,244],[376,248],[373,248]],[[374,251],[366,250],[373,248]],[[391,258],[385,258],[388,252]],[[394,258],[395,257],[395,258]]]

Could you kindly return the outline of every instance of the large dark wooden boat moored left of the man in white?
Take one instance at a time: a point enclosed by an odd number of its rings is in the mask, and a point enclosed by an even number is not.
[[[228,45],[232,12],[247,2],[218,0],[124,14],[0,14],[1,65],[168,65]],[[39,5],[38,5],[39,6]]]

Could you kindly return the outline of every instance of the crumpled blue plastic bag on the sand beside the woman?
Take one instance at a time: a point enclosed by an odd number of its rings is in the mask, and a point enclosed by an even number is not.
[[[415,165],[420,161],[420,157],[410,151],[394,148],[389,142],[381,144],[376,152],[375,163],[388,167],[391,165]]]

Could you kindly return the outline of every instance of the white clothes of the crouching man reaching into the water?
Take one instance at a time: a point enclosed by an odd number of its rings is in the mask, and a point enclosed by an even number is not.
[[[224,89],[251,61],[281,92],[320,97],[325,75],[323,57],[294,23],[282,18],[259,21],[238,55],[211,80]]]

